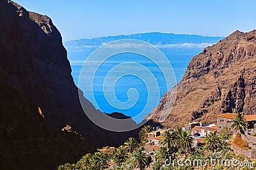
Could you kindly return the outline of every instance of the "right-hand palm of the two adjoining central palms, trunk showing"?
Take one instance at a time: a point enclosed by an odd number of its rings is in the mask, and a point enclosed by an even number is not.
[[[175,136],[175,141],[179,148],[182,148],[185,156],[187,156],[187,150],[190,150],[193,146],[193,138],[191,134],[186,131],[180,131],[178,136]]]

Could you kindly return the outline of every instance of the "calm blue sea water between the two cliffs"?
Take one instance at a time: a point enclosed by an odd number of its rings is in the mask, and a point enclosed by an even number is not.
[[[175,73],[175,77],[177,82],[182,79],[182,76],[184,75],[187,66],[189,62],[191,61],[192,57],[195,56],[197,53],[200,53],[203,48],[196,48],[196,49],[186,49],[186,50],[173,50],[173,49],[161,49],[161,51],[166,55],[170,63],[172,64],[173,71]],[[68,59],[70,60],[70,64],[72,67],[72,76],[74,78],[74,82],[78,86],[79,81],[79,74],[81,71],[81,68],[83,66],[84,60],[90,55],[90,53],[93,51],[93,49],[88,49],[87,51],[83,52],[69,52],[68,51]],[[97,62],[97,61],[95,61]],[[111,80],[113,78],[112,82],[114,83],[106,83],[111,81],[104,81],[107,76],[109,76],[109,71],[113,69],[113,67],[118,66],[118,64],[124,63],[124,62],[136,62],[141,64],[142,66],[147,67],[147,69],[154,74],[154,76],[157,78],[158,87],[156,85],[147,85],[145,81],[147,80],[141,80],[141,77],[143,77],[143,71],[141,71],[136,66],[127,66],[122,67],[119,71],[116,72],[122,72],[124,70],[130,71],[134,75],[127,75],[123,76],[122,78],[119,78],[118,80],[115,80],[115,73],[110,74],[112,77],[108,77],[108,80]],[[88,67],[95,67],[92,63],[92,65],[89,65]],[[85,68],[86,69],[86,68]],[[89,68],[88,68],[89,69]],[[83,77],[84,80],[86,80],[86,77]],[[144,76],[144,79],[145,78]],[[145,57],[141,57],[140,55],[132,55],[132,54],[122,54],[122,55],[116,55],[115,57],[111,57],[111,59],[106,60],[102,65],[100,65],[97,73],[95,74],[95,78],[93,82],[90,81],[84,81],[84,88],[82,89],[84,92],[84,96],[93,103],[96,109],[99,109],[105,113],[113,113],[113,112],[120,112],[124,113],[127,116],[134,117],[138,115],[141,111],[143,111],[143,114],[135,118],[134,120],[136,122],[140,122],[143,120],[145,115],[147,113],[150,113],[154,107],[159,104],[159,99],[161,99],[161,96],[163,96],[164,92],[170,89],[166,89],[166,81],[164,81],[163,74],[161,73],[161,70],[159,67],[154,64],[154,62],[150,62],[150,60],[145,59]],[[176,82],[168,82],[172,83],[174,85]],[[90,85],[93,84],[93,95],[94,99],[92,99],[92,96],[86,96],[86,93]],[[152,86],[152,87],[150,87]],[[130,89],[130,90],[129,90]],[[136,89],[136,90],[134,90]],[[154,89],[148,91],[148,89]],[[108,94],[111,90],[114,91],[115,95]],[[157,91],[159,90],[159,92]],[[148,103],[148,93],[156,93],[156,96],[158,97],[157,103]],[[116,101],[117,99],[117,101]],[[115,106],[115,104],[125,103],[127,101],[131,101],[133,103],[129,109],[123,110]],[[116,103],[115,103],[116,102]],[[145,107],[147,106],[147,107]],[[147,109],[145,109],[147,108]]]

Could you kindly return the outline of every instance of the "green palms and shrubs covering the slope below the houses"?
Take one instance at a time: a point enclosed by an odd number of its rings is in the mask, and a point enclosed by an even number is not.
[[[240,116],[237,116],[241,118]],[[238,120],[238,118],[237,118]],[[243,120],[243,118],[242,118]],[[238,122],[238,121],[237,121]],[[241,122],[241,121],[240,121]],[[243,122],[243,121],[242,121]],[[237,124],[238,129],[243,127],[243,124]],[[243,129],[243,128],[241,128]],[[210,132],[204,139],[204,146],[194,146],[193,138],[189,132],[183,131],[178,127],[175,131],[162,131],[159,141],[160,146],[148,147],[145,146],[147,142],[148,132],[152,132],[150,126],[143,127],[140,131],[141,143],[138,143],[134,138],[128,138],[124,145],[118,148],[104,147],[98,152],[87,153],[76,164],[66,163],[58,166],[61,170],[94,170],[94,169],[113,169],[113,170],[132,170],[132,169],[154,169],[154,170],[182,170],[182,169],[227,169],[227,166],[189,166],[186,160],[202,160],[207,162],[211,158],[216,158],[216,153],[220,152],[220,159],[237,159],[245,161],[246,158],[235,154],[227,143],[231,132],[228,128],[223,127],[220,135],[216,132]],[[241,133],[237,133],[234,143],[243,148],[250,149],[250,146],[241,138]],[[159,147],[159,148],[157,148]],[[146,149],[145,149],[146,148]],[[207,148],[205,150],[205,148]],[[147,152],[146,152],[147,151]],[[170,162],[170,165],[164,165],[166,160],[182,160],[182,162]],[[182,164],[182,166],[180,166]],[[254,164],[256,166],[256,164]],[[255,167],[249,167],[253,169]],[[228,169],[236,169],[236,167],[229,167]]]

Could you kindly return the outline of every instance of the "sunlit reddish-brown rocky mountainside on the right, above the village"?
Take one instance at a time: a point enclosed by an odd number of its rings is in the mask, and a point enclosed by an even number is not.
[[[191,60],[178,85],[177,101],[162,125],[216,122],[221,113],[253,114],[256,110],[256,31],[232,33]],[[152,120],[158,121],[161,108]]]

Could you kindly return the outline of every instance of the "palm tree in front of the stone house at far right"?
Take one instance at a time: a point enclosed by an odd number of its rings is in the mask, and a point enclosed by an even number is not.
[[[244,131],[246,131],[247,129],[247,122],[244,115],[242,115],[241,113],[236,113],[236,117],[234,118],[231,127],[234,128],[236,131],[239,130],[243,134]]]

